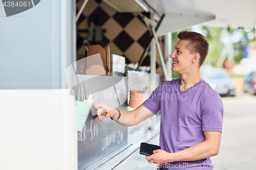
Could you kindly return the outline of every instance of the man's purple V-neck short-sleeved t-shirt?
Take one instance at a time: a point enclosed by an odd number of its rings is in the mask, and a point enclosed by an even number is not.
[[[205,141],[203,131],[222,132],[222,99],[203,79],[183,92],[180,79],[165,81],[142,105],[155,114],[161,110],[160,146],[168,153]],[[161,167],[192,170],[213,169],[214,165],[210,158],[205,158],[166,163]]]

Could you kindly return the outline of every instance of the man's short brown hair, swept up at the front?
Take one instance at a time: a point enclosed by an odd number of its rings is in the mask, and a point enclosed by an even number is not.
[[[190,53],[199,53],[200,59],[199,59],[199,67],[202,66],[202,64],[205,61],[206,56],[209,52],[209,44],[207,39],[199,33],[196,32],[188,32],[183,31],[180,32],[177,37],[179,39],[189,40],[190,42],[187,44],[187,48],[190,51]]]

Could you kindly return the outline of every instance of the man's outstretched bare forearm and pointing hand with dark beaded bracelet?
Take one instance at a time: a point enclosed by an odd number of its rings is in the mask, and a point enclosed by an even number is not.
[[[101,115],[111,118],[117,118],[119,115],[119,112],[116,109],[112,109],[109,106],[98,104],[95,105],[95,107],[100,107],[97,110],[97,116],[101,122],[103,122]],[[123,126],[135,126],[153,115],[155,115],[155,113],[148,110],[145,106],[140,105],[137,109],[132,111],[121,111],[121,116],[116,122]]]

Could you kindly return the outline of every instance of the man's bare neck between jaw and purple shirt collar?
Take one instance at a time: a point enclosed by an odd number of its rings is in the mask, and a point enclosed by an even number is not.
[[[194,86],[200,80],[202,80],[200,76],[200,70],[191,71],[188,74],[182,74],[180,77],[180,89],[181,91],[185,91],[189,87]]]

